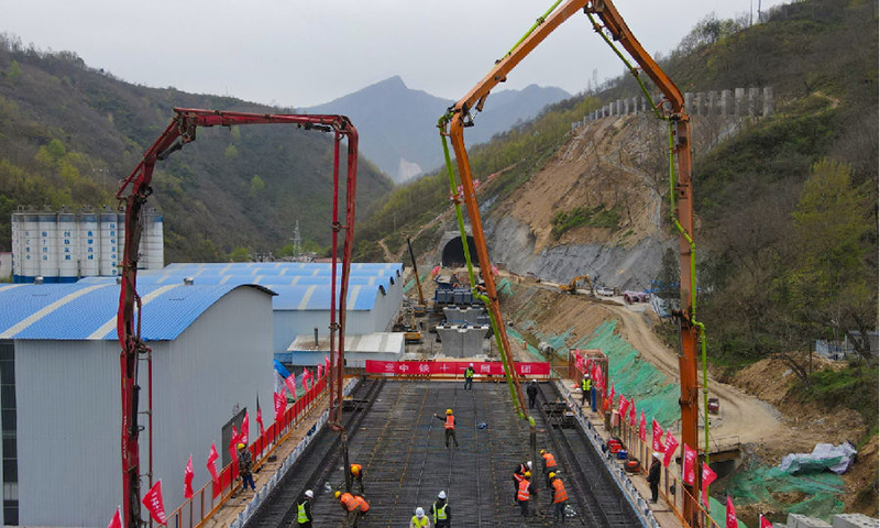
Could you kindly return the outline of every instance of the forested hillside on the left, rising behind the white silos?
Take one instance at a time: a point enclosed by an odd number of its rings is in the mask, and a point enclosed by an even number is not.
[[[10,251],[10,213],[19,206],[116,207],[117,182],[174,107],[290,111],[131,85],[75,53],[0,37],[0,251]],[[164,215],[166,262],[277,254],[296,221],[312,248],[326,246],[331,176],[328,134],[283,125],[200,130],[154,175],[148,205]],[[359,213],[366,217],[392,183],[364,158],[359,179]]]

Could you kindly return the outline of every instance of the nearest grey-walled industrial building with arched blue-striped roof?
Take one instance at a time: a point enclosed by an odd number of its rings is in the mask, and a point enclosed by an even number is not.
[[[139,375],[140,409],[152,393],[153,410],[142,469],[152,459],[170,512],[184,498],[188,457],[200,486],[211,443],[226,453],[232,420],[251,409],[254,431],[257,397],[272,406],[273,293],[183,282],[139,293],[152,348],[152,391],[146,362]],[[118,302],[116,282],[0,286],[4,525],[106,526],[122,503]]]

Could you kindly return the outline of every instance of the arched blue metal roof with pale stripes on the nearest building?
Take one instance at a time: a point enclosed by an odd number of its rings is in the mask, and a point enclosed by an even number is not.
[[[0,339],[116,340],[119,285],[111,280],[0,286]],[[237,287],[240,285],[139,285],[141,337],[147,341],[176,339]]]

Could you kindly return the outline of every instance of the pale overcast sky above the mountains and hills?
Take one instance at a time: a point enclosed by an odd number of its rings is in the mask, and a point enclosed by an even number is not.
[[[784,0],[615,0],[645,48],[668,54],[696,22]],[[284,107],[328,102],[393,75],[459,99],[550,0],[0,0],[0,32],[72,51],[130,82]],[[757,15],[755,16],[757,20]],[[503,88],[571,94],[624,72],[585,15],[566,21]]]

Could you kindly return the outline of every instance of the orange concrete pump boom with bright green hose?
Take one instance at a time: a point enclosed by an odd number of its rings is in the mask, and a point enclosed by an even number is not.
[[[495,62],[495,65],[468,94],[464,95],[455,105],[450,107],[439,119],[438,128],[443,145],[447,173],[452,190],[452,201],[455,206],[459,221],[459,230],[463,241],[464,254],[468,261],[471,287],[474,295],[481,298],[486,305],[495,337],[498,342],[498,350],[505,366],[508,385],[510,386],[514,405],[520,417],[528,419],[531,427],[531,451],[532,460],[535,457],[535,421],[528,416],[528,410],[522,402],[522,392],[519,380],[513,365],[510,344],[507,338],[506,326],[504,324],[501,307],[498,304],[498,292],[495,285],[495,277],[491,273],[483,274],[485,279],[485,295],[477,295],[475,288],[474,273],[471,264],[470,252],[466,243],[464,220],[461,213],[462,202],[466,206],[468,216],[473,234],[473,242],[476,249],[479,265],[481,270],[491,270],[488,249],[486,245],[483,222],[480,216],[480,207],[476,201],[476,190],[474,186],[474,175],[471,170],[471,163],[468,158],[468,150],[464,144],[464,129],[473,127],[474,116],[483,110],[490,92],[498,84],[507,80],[507,75],[548,35],[565,22],[572,15],[583,12],[590,20],[593,29],[614,50],[627,65],[629,72],[636,77],[642,91],[650,97],[640,74],[645,74],[654,84],[657,89],[662,92],[662,99],[653,107],[658,118],[667,122],[670,138],[670,210],[672,221],[679,232],[679,253],[681,264],[681,310],[676,314],[680,327],[681,345],[679,353],[681,397],[681,431],[682,446],[685,443],[696,448],[698,441],[698,382],[697,382],[697,345],[703,333],[703,326],[696,320],[696,284],[695,284],[695,251],[694,251],[694,222],[693,222],[693,186],[691,180],[691,123],[684,109],[684,97],[681,90],[660,68],[657,62],[636,40],[632,32],[627,26],[617,8],[612,0],[557,0],[556,3],[541,15],[529,31],[510,48],[507,54]],[[623,47],[620,51],[617,45]],[[632,66],[624,55],[624,52],[637,63],[638,67]],[[448,142],[452,144],[455,155],[455,166],[453,167]],[[676,160],[673,160],[676,158]],[[678,162],[678,177],[674,177],[675,161]],[[461,191],[455,183],[455,168],[461,179]],[[703,343],[704,362],[704,398],[707,397],[705,388],[705,340]],[[707,415],[706,415],[707,419]],[[706,431],[708,428],[706,428]],[[706,435],[707,437],[707,435]],[[708,439],[706,438],[706,441]],[[683,449],[683,448],[682,448]],[[708,449],[705,451],[708,452]],[[698,472],[697,472],[698,473]],[[697,497],[700,490],[700,476],[697,475],[694,484],[686,486],[688,493],[692,497]],[[685,501],[684,519],[690,526],[698,525],[698,506]]]

